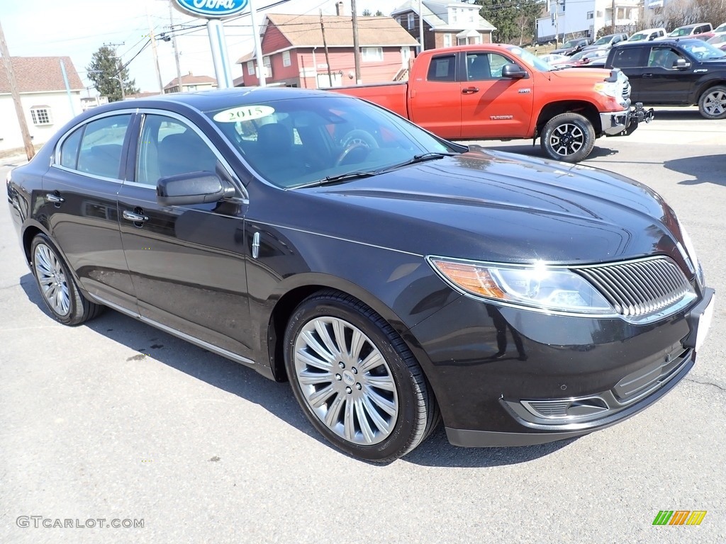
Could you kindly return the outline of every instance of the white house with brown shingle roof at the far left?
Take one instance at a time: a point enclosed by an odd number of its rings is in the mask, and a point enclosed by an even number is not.
[[[81,113],[83,83],[70,57],[10,57],[33,144],[45,143]],[[66,88],[62,65],[68,80]],[[70,91],[69,91],[70,90]],[[70,95],[70,96],[69,96]],[[5,70],[0,70],[0,151],[23,147]]]

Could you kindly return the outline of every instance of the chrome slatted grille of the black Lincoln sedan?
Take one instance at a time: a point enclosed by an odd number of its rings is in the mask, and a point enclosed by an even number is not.
[[[659,313],[696,293],[669,257],[649,257],[626,263],[577,268],[626,317]]]

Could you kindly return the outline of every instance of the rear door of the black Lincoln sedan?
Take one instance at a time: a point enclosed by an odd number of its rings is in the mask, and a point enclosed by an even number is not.
[[[133,110],[119,110],[74,127],[60,139],[43,178],[49,233],[81,287],[127,310],[136,307],[136,295],[121,246],[116,194],[133,118]]]

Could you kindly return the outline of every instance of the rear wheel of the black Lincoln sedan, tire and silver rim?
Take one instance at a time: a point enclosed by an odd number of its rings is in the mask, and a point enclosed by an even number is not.
[[[80,325],[103,311],[102,305],[83,297],[68,265],[45,234],[37,234],[30,244],[30,268],[43,302],[56,321]]]

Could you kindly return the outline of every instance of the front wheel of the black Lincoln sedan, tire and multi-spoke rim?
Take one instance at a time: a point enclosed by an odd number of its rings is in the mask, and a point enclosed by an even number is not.
[[[403,339],[347,294],[325,290],[295,308],[285,330],[285,367],[311,424],[356,458],[394,461],[439,424],[439,407]]]

